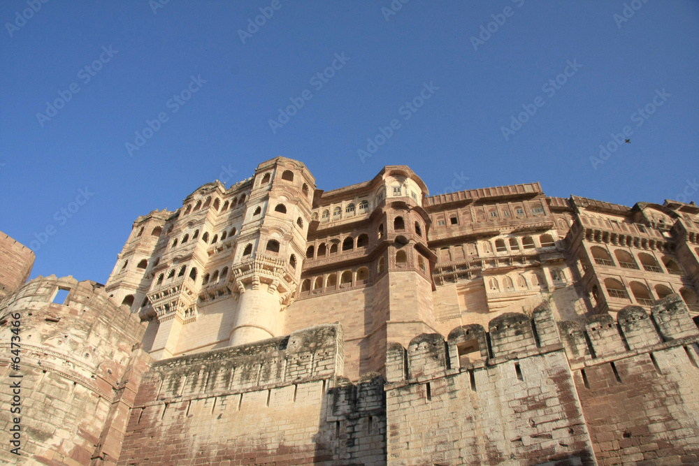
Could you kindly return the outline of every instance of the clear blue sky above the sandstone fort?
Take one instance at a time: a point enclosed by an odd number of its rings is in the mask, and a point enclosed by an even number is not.
[[[0,5],[0,230],[40,245],[32,277],[106,282],[138,215],[275,156],[306,163],[321,189],[390,164],[433,193],[464,177],[626,205],[696,189],[697,1],[157,2]],[[260,8],[273,14],[251,34]],[[303,107],[272,129],[290,98]],[[593,169],[624,126],[631,143]]]

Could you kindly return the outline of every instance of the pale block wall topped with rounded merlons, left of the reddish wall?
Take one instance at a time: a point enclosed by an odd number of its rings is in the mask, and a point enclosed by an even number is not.
[[[387,379],[389,465],[594,464],[545,306],[391,344]]]

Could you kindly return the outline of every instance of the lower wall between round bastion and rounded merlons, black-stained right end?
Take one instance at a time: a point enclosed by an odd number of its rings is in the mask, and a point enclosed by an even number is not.
[[[119,464],[384,464],[383,379],[343,361],[324,325],[154,363]]]

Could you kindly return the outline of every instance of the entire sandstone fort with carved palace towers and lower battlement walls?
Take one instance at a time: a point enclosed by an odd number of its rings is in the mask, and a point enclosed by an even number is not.
[[[0,258],[0,462],[699,464],[695,203],[278,157],[138,217],[106,284]]]

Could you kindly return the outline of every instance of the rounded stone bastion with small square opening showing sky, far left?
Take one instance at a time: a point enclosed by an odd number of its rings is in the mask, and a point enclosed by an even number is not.
[[[52,303],[59,288],[69,294],[64,303]],[[20,314],[20,367],[9,365],[13,334],[4,321],[0,404],[10,405],[10,380],[19,380],[22,456],[3,448],[0,462],[115,464],[141,374],[151,361],[140,349],[144,327],[138,318],[115,306],[100,285],[55,276],[38,277],[1,300],[0,315],[8,313]],[[9,410],[2,409],[5,446],[10,421]]]

